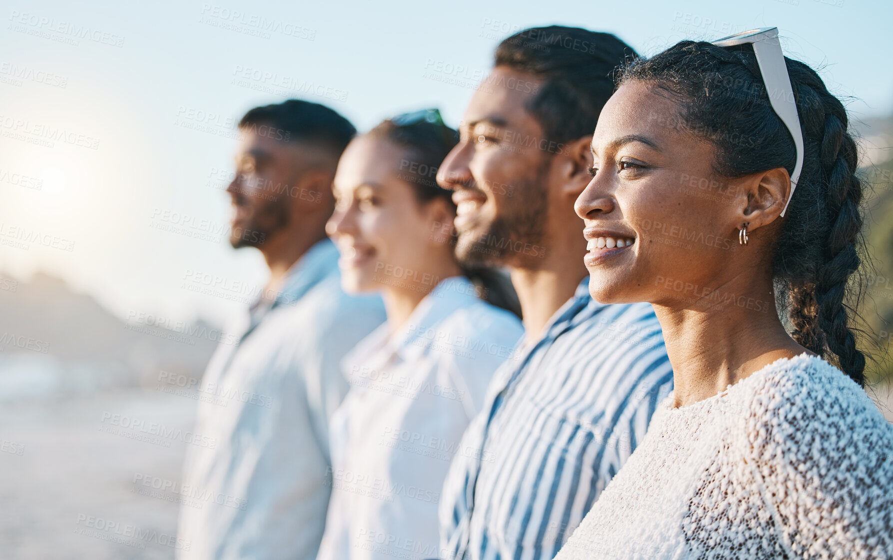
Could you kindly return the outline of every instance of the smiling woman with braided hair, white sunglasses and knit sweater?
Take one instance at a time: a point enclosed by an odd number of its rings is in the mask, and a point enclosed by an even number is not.
[[[856,145],[775,46],[773,69],[747,42],[680,42],[624,68],[599,117],[589,291],[654,305],[675,389],[558,560],[893,558],[893,428],[845,303]]]

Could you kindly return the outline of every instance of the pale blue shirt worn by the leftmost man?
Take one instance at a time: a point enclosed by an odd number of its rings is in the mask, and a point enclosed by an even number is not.
[[[330,414],[343,355],[384,321],[379,297],[340,287],[327,238],[288,272],[271,305],[228,329],[199,393],[183,476],[181,560],[313,560],[329,504]]]

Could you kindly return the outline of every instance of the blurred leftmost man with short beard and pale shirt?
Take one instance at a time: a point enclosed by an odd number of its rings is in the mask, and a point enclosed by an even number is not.
[[[384,321],[377,297],[341,290],[325,233],[355,129],[293,99],[252,109],[239,131],[230,244],[260,250],[270,280],[204,373],[194,433],[208,445],[188,446],[178,554],[313,560],[331,490],[328,422],[347,389],[338,363]]]

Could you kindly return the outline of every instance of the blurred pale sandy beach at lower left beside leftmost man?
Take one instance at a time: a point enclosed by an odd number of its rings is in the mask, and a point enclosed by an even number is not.
[[[110,431],[114,414],[157,422],[170,436]],[[172,434],[189,430],[194,414],[195,401],[152,389],[3,405],[0,556],[172,558],[181,497],[163,488],[176,489],[189,445]]]

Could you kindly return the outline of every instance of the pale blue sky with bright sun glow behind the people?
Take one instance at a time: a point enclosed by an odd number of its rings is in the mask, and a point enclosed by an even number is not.
[[[197,274],[230,287],[265,278],[255,251],[219,235],[231,125],[252,106],[300,89],[361,130],[432,106],[455,124],[501,38],[557,23],[643,54],[777,26],[786,54],[821,67],[856,118],[889,114],[891,6],[13,0],[0,12],[0,275],[53,272],[122,317],[220,320],[239,304],[196,294]]]

